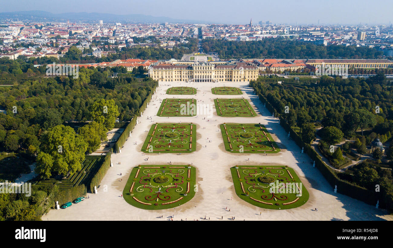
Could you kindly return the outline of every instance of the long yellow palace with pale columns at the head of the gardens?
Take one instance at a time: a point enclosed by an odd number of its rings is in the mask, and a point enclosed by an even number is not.
[[[258,67],[244,62],[156,64],[149,67],[149,76],[159,82],[248,82],[257,80]]]

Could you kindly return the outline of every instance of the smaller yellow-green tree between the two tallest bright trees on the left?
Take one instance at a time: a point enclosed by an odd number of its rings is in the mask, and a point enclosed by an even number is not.
[[[95,121],[90,122],[78,129],[78,134],[87,142],[88,153],[96,151],[101,144],[101,140],[107,139],[107,132],[105,127]]]

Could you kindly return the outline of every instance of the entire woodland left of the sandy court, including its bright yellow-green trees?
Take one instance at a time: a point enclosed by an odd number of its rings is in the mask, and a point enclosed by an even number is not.
[[[6,110],[0,113],[0,182],[25,173],[19,161],[26,160],[36,161],[35,172],[45,178],[73,175],[81,169],[85,154],[106,140],[116,118],[130,121],[156,86],[149,77],[108,77],[109,68],[80,68],[79,77],[73,79],[45,77],[29,63],[1,60],[0,64],[0,85],[11,76],[23,79],[12,87],[0,87],[0,109]],[[27,73],[31,77],[24,77]],[[74,129],[67,121],[90,122]],[[10,156],[14,163],[9,163]],[[39,220],[55,199],[82,196],[86,187],[59,190],[40,185],[32,192],[32,197],[0,194],[0,220]]]

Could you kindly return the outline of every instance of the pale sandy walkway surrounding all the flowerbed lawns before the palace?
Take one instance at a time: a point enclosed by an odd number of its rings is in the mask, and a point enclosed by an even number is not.
[[[211,88],[216,86],[237,86],[243,90],[243,95],[223,96],[211,94]],[[193,86],[197,88],[196,95],[166,95],[165,92],[171,86]],[[229,220],[235,216],[235,220],[393,220],[393,216],[387,212],[376,209],[375,206],[367,205],[353,198],[334,194],[333,188],[323,178],[318,169],[312,167],[310,158],[301,154],[299,147],[294,141],[289,141],[288,134],[278,124],[278,119],[260,104],[252,89],[247,83],[172,83],[171,86],[160,83],[157,93],[153,96],[149,107],[140,117],[140,124],[136,125],[120,154],[113,154],[114,167],[108,170],[107,175],[101,182],[98,194],[89,194],[90,198],[73,204],[72,207],[61,210],[51,210],[42,220],[167,220],[167,216],[174,214],[174,220],[202,219],[206,215],[210,220]],[[213,111],[213,116],[206,115],[198,117],[157,117],[160,99],[164,98],[194,98],[201,100],[202,104],[211,104],[213,99],[244,97],[250,100],[258,116],[250,118],[219,117]],[[209,99],[211,98],[211,99]],[[257,104],[257,106],[255,106]],[[262,116],[261,114],[266,116]],[[152,121],[147,117],[152,116]],[[204,120],[203,118],[206,119]],[[217,121],[215,121],[217,119]],[[209,120],[209,121],[208,121]],[[197,129],[197,151],[189,154],[149,154],[143,156],[141,145],[143,144],[153,123],[165,122],[193,122],[198,125]],[[222,123],[262,123],[272,133],[273,138],[281,148],[278,154],[232,154],[224,151],[222,136],[219,132],[219,124]],[[206,128],[206,129],[203,129]],[[208,142],[212,140],[211,143]],[[138,145],[135,142],[138,142]],[[206,148],[205,148],[206,145]],[[145,159],[149,156],[149,162]],[[250,161],[246,161],[250,158]],[[118,162],[121,162],[119,165]],[[186,204],[175,209],[165,210],[143,210],[129,205],[120,196],[131,168],[138,164],[173,164],[193,163],[197,168],[198,192],[195,197]],[[304,161],[304,163],[303,163]],[[235,195],[231,180],[230,167],[233,165],[288,165],[292,167],[299,178],[307,187],[309,201],[296,209],[268,210],[252,206],[242,201]],[[123,176],[119,174],[122,173]],[[121,181],[121,178],[123,181]],[[340,189],[338,189],[340,192]],[[232,200],[231,200],[232,197]],[[228,212],[225,208],[230,208]],[[312,209],[318,208],[318,212]],[[262,212],[259,215],[259,212]],[[157,216],[163,215],[163,219]]]

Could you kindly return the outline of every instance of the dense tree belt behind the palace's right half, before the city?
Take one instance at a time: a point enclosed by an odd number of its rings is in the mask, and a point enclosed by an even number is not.
[[[205,39],[202,48],[206,53],[219,53],[222,59],[377,59],[383,55],[382,51],[365,46],[323,46],[282,37],[247,42]]]

